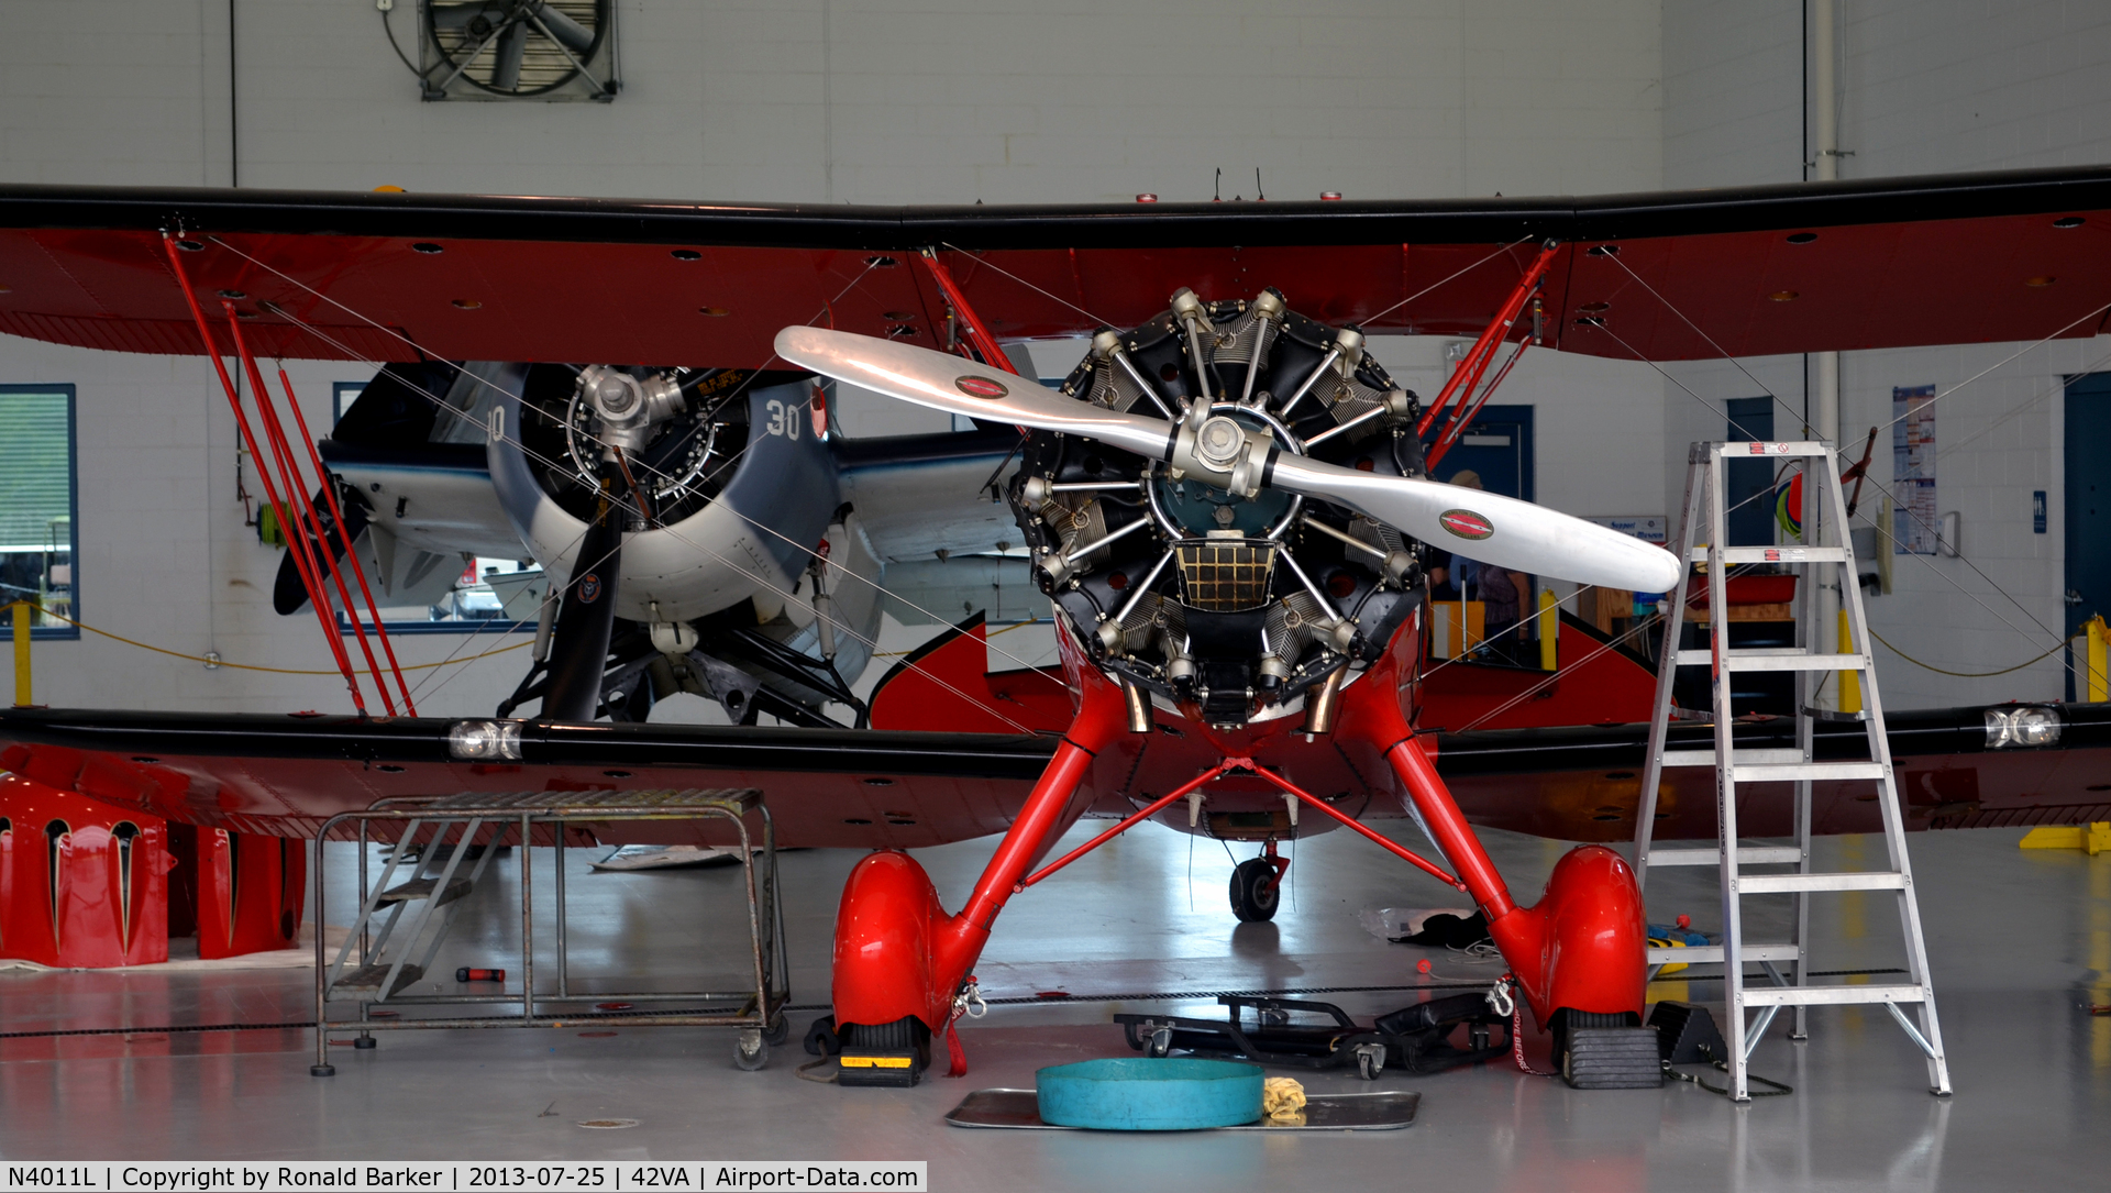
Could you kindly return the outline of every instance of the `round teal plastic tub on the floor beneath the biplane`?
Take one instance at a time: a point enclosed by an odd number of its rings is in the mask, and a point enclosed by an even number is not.
[[[1102,1132],[1199,1132],[1260,1117],[1260,1068],[1231,1060],[1123,1056],[1034,1073],[1041,1121]]]

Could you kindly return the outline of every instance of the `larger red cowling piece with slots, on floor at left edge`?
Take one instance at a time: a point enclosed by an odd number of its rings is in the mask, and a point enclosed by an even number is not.
[[[0,957],[106,969],[169,959],[167,826],[0,775]]]

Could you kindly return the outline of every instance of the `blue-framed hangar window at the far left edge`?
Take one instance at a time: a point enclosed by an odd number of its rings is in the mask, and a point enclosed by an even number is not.
[[[80,638],[74,526],[74,386],[0,384],[0,602],[34,606],[34,638]]]

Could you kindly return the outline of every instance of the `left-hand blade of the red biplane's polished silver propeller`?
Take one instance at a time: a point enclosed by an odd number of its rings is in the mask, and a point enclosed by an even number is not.
[[[802,370],[946,414],[1083,435],[1150,460],[1167,458],[1174,441],[1174,424],[1163,418],[1100,410],[1032,378],[895,340],[785,327],[777,334],[777,355]]]

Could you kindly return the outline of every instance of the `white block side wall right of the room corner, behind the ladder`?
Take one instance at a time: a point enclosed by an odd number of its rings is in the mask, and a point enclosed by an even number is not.
[[[1839,8],[1839,144],[1853,154],[1841,158],[1841,177],[2111,160],[2111,6],[1845,0]],[[1666,186],[1801,177],[1801,38],[1794,4],[1695,0],[1666,6]],[[1948,393],[2020,346],[1849,353],[1841,435],[1860,443],[1868,427],[1889,422],[1891,386],[1936,384],[1938,393]],[[1970,562],[1896,557],[1896,591],[1868,602],[1870,621],[1885,640],[1942,669],[1991,671],[2058,638],[2065,617],[2058,384],[2062,372],[2107,367],[2107,355],[2111,340],[2052,344],[1942,399],[1938,505],[1963,515]],[[1748,365],[1801,410],[1799,359]],[[1672,372],[1712,399],[1756,395],[1752,382],[1725,365],[1676,365]],[[2024,414],[1974,437],[2033,397],[2039,401]],[[1666,384],[1663,422],[1666,492],[1676,503],[1687,441],[1718,437],[1723,420]],[[1777,427],[1788,427],[1782,412]],[[1889,452],[1889,431],[1883,431],[1872,475],[1885,484]],[[2031,534],[2031,490],[2048,492],[2046,534]],[[1891,707],[2048,699],[2065,690],[2058,657],[1984,680],[1940,676],[1883,646],[1877,659]]]

